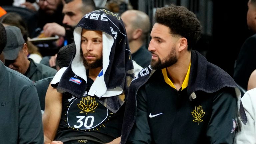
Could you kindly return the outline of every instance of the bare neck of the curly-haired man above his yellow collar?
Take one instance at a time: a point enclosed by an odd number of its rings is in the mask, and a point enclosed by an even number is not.
[[[172,81],[177,90],[181,88],[183,81],[185,80],[190,61],[191,53],[186,54],[181,57],[176,64],[166,68],[168,78]]]

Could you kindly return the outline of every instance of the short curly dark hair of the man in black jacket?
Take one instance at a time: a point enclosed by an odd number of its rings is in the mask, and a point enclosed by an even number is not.
[[[197,43],[200,38],[202,26],[196,15],[186,7],[170,5],[158,8],[155,13],[156,23],[170,28],[170,33],[185,37],[188,42],[188,50]]]

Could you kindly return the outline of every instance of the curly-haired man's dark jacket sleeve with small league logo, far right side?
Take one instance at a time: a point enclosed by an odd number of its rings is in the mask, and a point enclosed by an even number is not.
[[[237,101],[234,88],[224,87],[213,98],[212,114],[206,135],[209,143],[233,144]]]

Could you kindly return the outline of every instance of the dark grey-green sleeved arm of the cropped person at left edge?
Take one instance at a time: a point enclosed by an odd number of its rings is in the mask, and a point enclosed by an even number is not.
[[[19,144],[43,143],[42,114],[36,87],[28,87],[19,100]]]

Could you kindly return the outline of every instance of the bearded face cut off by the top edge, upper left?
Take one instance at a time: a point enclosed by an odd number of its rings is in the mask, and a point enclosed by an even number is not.
[[[61,0],[39,0],[39,7],[47,14],[54,14]]]

